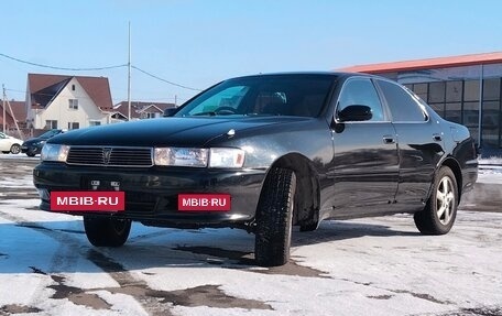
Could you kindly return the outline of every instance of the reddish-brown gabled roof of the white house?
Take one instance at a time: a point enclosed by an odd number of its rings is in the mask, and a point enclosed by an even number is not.
[[[72,78],[77,79],[101,110],[111,111],[113,109],[108,78],[47,74],[28,74],[32,106],[45,108]]]

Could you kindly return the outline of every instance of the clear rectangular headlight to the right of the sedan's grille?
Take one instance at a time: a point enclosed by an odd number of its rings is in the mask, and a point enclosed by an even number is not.
[[[242,167],[244,151],[240,149],[156,148],[155,165],[193,167]]]

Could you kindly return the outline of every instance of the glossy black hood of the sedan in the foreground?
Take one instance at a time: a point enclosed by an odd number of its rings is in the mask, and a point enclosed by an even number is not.
[[[204,146],[209,140],[233,130],[308,120],[297,117],[161,118],[73,130],[51,138],[48,143],[68,145]]]

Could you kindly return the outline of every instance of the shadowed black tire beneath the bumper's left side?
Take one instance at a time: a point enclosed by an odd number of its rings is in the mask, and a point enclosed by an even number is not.
[[[96,247],[120,247],[128,240],[131,220],[84,216],[87,239]]]

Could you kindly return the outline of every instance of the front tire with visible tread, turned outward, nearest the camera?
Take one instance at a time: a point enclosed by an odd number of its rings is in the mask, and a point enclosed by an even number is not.
[[[290,260],[296,176],[274,167],[266,176],[257,209],[254,259],[258,265],[283,265]]]

